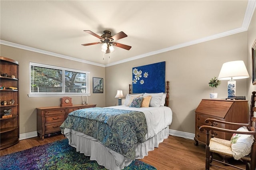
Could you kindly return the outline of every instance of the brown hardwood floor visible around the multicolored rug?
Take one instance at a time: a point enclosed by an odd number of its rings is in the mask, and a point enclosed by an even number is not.
[[[18,144],[10,148],[0,150],[0,156],[64,138],[60,134],[44,138],[44,140],[40,140],[40,137],[20,140]],[[160,143],[158,148],[148,152],[148,156],[145,156],[141,161],[156,167],[158,170],[204,170],[205,146],[203,144],[195,146],[194,140],[169,135],[168,139]],[[237,161],[236,163],[244,167],[242,162]],[[229,170],[235,170],[230,166],[226,167]],[[220,168],[212,166],[210,169],[219,170]]]

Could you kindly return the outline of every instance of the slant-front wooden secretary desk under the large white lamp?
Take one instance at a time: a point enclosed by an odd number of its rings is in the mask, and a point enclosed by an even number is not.
[[[206,144],[206,131],[201,132],[199,127],[210,125],[205,119],[212,118],[233,123],[248,123],[248,101],[247,100],[225,100],[225,99],[202,99],[196,108],[196,134],[195,145],[198,142]],[[238,127],[216,123],[215,127],[236,130]],[[232,134],[225,132],[214,132],[216,137],[230,140]]]

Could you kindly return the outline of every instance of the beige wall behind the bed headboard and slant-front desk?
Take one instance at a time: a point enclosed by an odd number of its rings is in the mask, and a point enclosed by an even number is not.
[[[209,80],[227,61],[243,60],[247,50],[247,32],[211,40],[158,55],[106,67],[106,106],[117,104],[117,89],[128,93],[132,67],[166,61],[166,81],[170,81],[169,107],[173,111],[170,129],[195,133],[195,109],[201,99],[209,99]],[[214,90],[219,99],[227,97],[227,81]],[[236,95],[247,95],[246,79],[237,80]],[[124,103],[124,99],[122,99]]]

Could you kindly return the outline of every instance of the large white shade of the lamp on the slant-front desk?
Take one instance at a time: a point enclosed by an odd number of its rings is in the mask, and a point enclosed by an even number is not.
[[[230,61],[222,65],[219,80],[245,79],[249,74],[244,65],[244,61]]]

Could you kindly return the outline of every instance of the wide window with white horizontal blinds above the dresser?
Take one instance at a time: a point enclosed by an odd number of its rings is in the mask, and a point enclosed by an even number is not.
[[[89,91],[90,72],[30,62],[32,96],[81,95]]]

